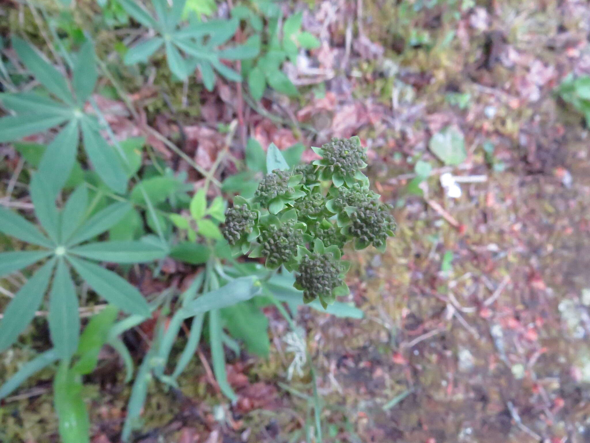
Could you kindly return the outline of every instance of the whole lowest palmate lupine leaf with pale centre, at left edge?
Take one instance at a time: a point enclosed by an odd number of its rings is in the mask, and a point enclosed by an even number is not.
[[[0,323],[0,350],[11,346],[30,323],[53,274],[48,323],[58,357],[67,360],[76,351],[80,330],[78,298],[71,273],[75,271],[97,294],[123,311],[147,315],[148,304],[134,286],[93,262],[149,262],[163,258],[166,250],[159,243],[148,240],[89,242],[119,222],[130,206],[113,203],[87,218],[86,185],[80,185],[61,210],[54,206],[49,187],[41,175],[37,174],[32,179],[30,192],[35,214],[45,234],[18,214],[2,207],[0,232],[42,249],[0,253],[0,276],[45,261],[6,307]]]

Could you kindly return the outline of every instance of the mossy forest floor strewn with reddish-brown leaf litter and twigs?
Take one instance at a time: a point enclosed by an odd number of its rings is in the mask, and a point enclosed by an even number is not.
[[[439,3],[310,2],[304,28],[323,45],[290,74],[312,86],[298,100],[244,105],[244,127],[263,146],[358,134],[375,190],[395,206],[385,253],[348,252],[349,301],[365,318],[301,308],[296,319],[319,379],[323,441],[590,442],[588,129],[555,93],[567,74],[590,74],[590,5]],[[234,88],[202,95],[185,127],[204,167],[225,138],[215,125],[235,118]],[[160,128],[176,118],[148,113]],[[464,135],[458,167],[429,149],[447,126]],[[205,136],[211,146],[198,143]],[[433,167],[421,183],[418,158]],[[445,172],[464,178],[459,198],[441,187]],[[311,378],[287,380],[288,325],[266,314],[269,359],[228,351],[237,404],[215,389],[201,345],[180,391],[150,391],[136,441],[315,441]],[[93,442],[116,443],[129,387],[114,354],[103,357],[86,380]],[[0,424],[51,441],[50,382],[40,373],[27,386],[46,392],[9,399]]]

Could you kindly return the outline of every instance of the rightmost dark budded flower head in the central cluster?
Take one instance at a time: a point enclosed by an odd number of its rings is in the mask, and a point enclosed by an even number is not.
[[[375,247],[385,245],[388,232],[395,231],[395,220],[390,210],[389,205],[378,201],[363,204],[350,214],[350,234],[362,243],[372,243]]]

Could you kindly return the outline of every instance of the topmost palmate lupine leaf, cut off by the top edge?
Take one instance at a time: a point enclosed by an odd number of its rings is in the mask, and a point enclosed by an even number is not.
[[[120,2],[137,22],[156,32],[155,37],[129,49],[124,57],[125,64],[145,62],[163,46],[168,67],[176,77],[184,80],[198,68],[205,87],[212,90],[215,86],[214,71],[228,80],[241,81],[240,73],[225,66],[221,60],[241,60],[258,54],[260,42],[256,37],[247,44],[218,49],[234,36],[239,24],[237,19],[199,22],[193,17],[188,24],[182,24],[185,0],[176,0],[171,7],[163,0],[153,0],[155,17],[135,0]]]

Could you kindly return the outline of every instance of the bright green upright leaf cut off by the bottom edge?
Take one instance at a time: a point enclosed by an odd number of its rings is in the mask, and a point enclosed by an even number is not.
[[[63,360],[53,381],[55,412],[59,419],[60,437],[63,443],[89,443],[90,420],[82,394],[80,377],[70,370],[68,360]]]

